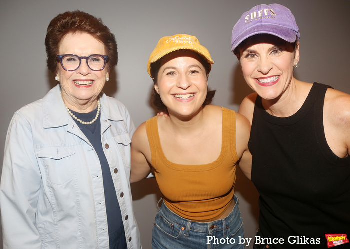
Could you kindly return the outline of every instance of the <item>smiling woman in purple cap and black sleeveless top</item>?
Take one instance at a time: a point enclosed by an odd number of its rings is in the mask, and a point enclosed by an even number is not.
[[[279,4],[253,7],[232,31],[232,51],[256,92],[239,109],[251,123],[260,193],[256,248],[323,248],[326,233],[350,234],[350,95],[294,78],[299,38]]]

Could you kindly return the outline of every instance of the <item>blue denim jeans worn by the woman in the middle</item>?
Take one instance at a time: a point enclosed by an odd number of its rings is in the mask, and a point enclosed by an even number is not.
[[[235,195],[233,199],[235,205],[232,212],[224,219],[211,222],[193,222],[182,218],[163,202],[155,216],[152,248],[244,248],[243,243],[239,244],[244,237],[239,200]]]

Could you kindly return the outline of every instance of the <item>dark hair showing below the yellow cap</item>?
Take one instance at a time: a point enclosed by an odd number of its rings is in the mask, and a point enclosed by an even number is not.
[[[161,61],[162,60],[159,59],[154,63],[150,64],[150,74],[151,74],[151,77],[153,78],[154,84],[158,82],[158,72],[160,67],[162,66]],[[208,75],[211,70],[211,65],[209,64],[209,62],[202,55],[199,56],[199,62],[205,68],[206,75]],[[210,88],[207,89],[207,94],[206,94],[206,98],[204,100],[203,106],[208,105],[212,102],[212,99],[215,96],[215,92],[216,90],[211,90]],[[153,100],[153,105],[157,108],[158,111],[165,111],[167,109],[166,105],[163,103],[163,101],[161,101],[160,95],[156,92],[154,88],[152,91],[152,100]]]

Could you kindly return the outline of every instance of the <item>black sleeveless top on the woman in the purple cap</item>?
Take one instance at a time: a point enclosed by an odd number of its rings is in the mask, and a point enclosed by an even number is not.
[[[260,193],[260,232],[284,238],[277,248],[313,248],[290,244],[289,236],[320,238],[314,248],[327,248],[327,233],[350,237],[350,156],[339,158],[326,142],[328,87],[314,83],[302,107],[284,118],[268,114],[256,98],[248,144],[251,177]]]

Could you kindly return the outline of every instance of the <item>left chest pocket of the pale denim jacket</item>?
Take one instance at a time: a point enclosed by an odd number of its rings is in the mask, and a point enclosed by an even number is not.
[[[74,178],[75,153],[74,148],[66,146],[44,147],[37,151],[49,183],[61,185]]]

